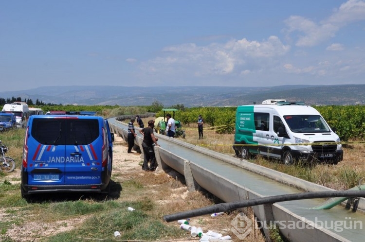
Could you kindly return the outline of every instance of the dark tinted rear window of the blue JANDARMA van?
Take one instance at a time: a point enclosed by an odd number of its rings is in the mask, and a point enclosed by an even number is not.
[[[34,119],[32,125],[32,136],[40,144],[87,145],[99,137],[95,119]]]

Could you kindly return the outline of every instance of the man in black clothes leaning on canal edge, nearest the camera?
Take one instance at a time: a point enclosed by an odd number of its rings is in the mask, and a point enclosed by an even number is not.
[[[156,164],[156,157],[155,157],[155,149],[153,147],[153,144],[160,146],[157,144],[158,138],[154,136],[153,134],[153,127],[155,121],[150,120],[148,121],[148,127],[141,129],[139,132],[143,135],[143,142],[142,142],[142,148],[144,153],[144,161],[142,165],[142,169],[144,171],[155,171],[157,164]],[[151,163],[149,164],[148,168],[148,161]]]

